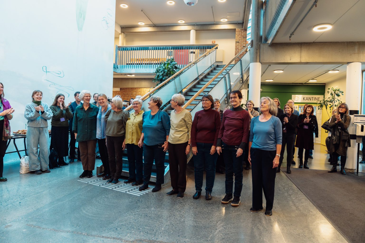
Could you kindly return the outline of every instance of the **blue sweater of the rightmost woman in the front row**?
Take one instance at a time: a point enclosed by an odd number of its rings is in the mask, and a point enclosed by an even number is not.
[[[276,145],[281,144],[283,133],[280,119],[272,115],[268,121],[261,122],[258,118],[251,119],[251,148],[276,150]]]

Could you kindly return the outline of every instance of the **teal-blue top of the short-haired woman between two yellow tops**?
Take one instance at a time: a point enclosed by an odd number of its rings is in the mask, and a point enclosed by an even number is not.
[[[146,111],[142,115],[144,142],[148,146],[163,144],[166,136],[170,133],[170,117],[165,111],[158,110],[151,115],[151,111]]]

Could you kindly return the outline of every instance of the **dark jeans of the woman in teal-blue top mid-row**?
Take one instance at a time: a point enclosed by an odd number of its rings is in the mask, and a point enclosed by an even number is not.
[[[143,144],[143,184],[148,184],[151,179],[153,160],[156,165],[156,185],[164,184],[165,155],[163,144],[146,145]]]

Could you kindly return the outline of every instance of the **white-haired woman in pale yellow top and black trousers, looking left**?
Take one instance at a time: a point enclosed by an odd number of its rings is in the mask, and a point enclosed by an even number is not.
[[[169,134],[169,165],[172,191],[166,193],[170,196],[177,194],[177,198],[184,197],[186,189],[187,155],[191,148],[191,125],[193,123],[190,111],[184,109],[185,97],[174,94],[171,97],[171,107],[174,109],[170,115]]]

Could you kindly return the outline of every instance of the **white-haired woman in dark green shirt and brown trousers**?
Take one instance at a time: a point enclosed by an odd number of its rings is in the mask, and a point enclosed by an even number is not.
[[[84,103],[75,108],[72,132],[75,133],[76,142],[80,148],[81,163],[84,169],[80,178],[85,176],[91,178],[92,171],[95,169],[96,117],[99,108],[90,103],[89,90],[82,90],[79,98]]]

